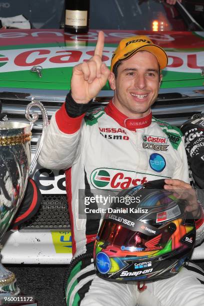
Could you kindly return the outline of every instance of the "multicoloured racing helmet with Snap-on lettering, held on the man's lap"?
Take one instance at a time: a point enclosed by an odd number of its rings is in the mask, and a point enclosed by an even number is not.
[[[191,256],[195,221],[164,179],[120,191],[94,244],[96,274],[113,281],[154,281],[178,273]]]

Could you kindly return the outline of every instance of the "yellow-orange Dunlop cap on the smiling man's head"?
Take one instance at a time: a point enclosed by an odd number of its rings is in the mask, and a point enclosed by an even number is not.
[[[144,35],[131,36],[120,40],[117,48],[112,54],[110,70],[114,64],[120,60],[126,60],[136,52],[145,50],[156,56],[160,69],[167,66],[168,57],[166,52],[158,45],[153,44],[153,42]]]

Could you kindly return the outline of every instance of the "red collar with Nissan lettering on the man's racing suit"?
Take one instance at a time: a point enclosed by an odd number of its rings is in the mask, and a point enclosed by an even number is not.
[[[104,111],[107,115],[112,117],[119,125],[126,127],[129,130],[135,131],[137,128],[147,127],[151,124],[152,113],[150,112],[142,118],[128,118],[122,112],[120,112],[113,101],[110,101],[107,106],[104,108]]]

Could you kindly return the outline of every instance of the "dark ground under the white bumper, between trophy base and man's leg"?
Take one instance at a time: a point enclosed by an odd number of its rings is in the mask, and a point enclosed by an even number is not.
[[[66,305],[64,287],[68,264],[4,264],[4,266],[15,273],[20,295],[34,295],[38,306]]]

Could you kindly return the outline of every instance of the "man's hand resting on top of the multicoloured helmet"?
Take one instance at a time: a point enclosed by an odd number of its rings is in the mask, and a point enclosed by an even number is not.
[[[185,199],[187,201],[185,211],[192,212],[195,219],[199,218],[200,206],[197,202],[195,190],[190,186],[190,184],[184,182],[183,180],[172,178],[166,178],[164,182],[165,185],[163,188],[165,190],[174,191],[174,195],[177,198]]]

